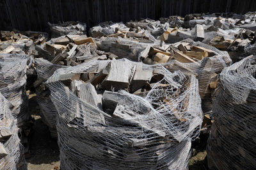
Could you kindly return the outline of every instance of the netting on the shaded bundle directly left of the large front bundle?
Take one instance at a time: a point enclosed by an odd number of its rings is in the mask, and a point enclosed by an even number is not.
[[[45,86],[44,82],[51,77],[51,75],[58,70],[58,68],[65,68],[66,66],[54,65],[51,62],[42,59],[35,59],[35,68],[37,79],[42,83],[36,87],[36,100],[40,107],[40,114],[44,123],[49,127],[51,136],[57,138],[56,130],[56,115],[57,111],[52,104],[49,88]]]

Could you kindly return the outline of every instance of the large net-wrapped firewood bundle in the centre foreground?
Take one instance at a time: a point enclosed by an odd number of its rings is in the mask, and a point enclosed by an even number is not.
[[[58,111],[61,169],[188,168],[202,123],[195,76],[92,60],[60,68],[46,83]]]

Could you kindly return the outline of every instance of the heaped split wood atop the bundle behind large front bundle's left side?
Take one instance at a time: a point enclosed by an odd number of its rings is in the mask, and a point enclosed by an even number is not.
[[[97,50],[92,37],[66,35],[52,38],[44,45],[36,45],[38,56],[52,64],[76,66],[90,59],[113,59],[115,55]]]

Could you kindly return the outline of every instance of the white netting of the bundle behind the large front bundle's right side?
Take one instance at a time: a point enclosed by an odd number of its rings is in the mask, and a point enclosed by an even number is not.
[[[196,79],[198,79],[199,93],[200,97],[202,98],[202,109],[204,114],[211,114],[211,95],[214,92],[214,89],[211,89],[209,85],[212,82],[218,82],[218,74],[223,70],[223,68],[230,66],[232,64],[232,60],[230,59],[227,51],[221,51],[215,47],[212,47],[211,45],[207,45],[202,42],[194,42],[191,39],[173,43],[172,45],[175,46],[180,43],[188,43],[191,46],[204,47],[205,49],[214,52],[214,56],[204,58],[196,63],[180,63],[179,61],[173,59],[168,63],[162,64],[170,72],[180,70],[185,75],[194,75]]]

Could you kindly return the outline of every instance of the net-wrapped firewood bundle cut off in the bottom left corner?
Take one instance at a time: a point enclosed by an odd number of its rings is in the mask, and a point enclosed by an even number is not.
[[[9,107],[10,103],[0,93],[0,169],[27,169],[19,128]]]

